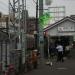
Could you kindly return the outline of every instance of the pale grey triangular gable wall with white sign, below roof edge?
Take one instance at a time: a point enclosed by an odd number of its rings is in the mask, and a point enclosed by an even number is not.
[[[65,21],[59,25],[54,26],[48,31],[50,36],[74,36],[75,35],[75,23],[71,21]]]

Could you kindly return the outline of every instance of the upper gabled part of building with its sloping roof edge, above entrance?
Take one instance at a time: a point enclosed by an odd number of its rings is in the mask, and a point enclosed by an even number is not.
[[[65,17],[60,21],[48,26],[44,29],[44,31],[53,38],[68,38],[69,42],[71,43],[75,41],[75,20],[71,17]]]

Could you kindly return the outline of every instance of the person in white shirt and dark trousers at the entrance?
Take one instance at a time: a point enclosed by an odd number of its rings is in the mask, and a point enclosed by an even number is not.
[[[63,46],[60,43],[58,43],[56,49],[57,49],[57,61],[63,62],[64,61],[63,60]]]

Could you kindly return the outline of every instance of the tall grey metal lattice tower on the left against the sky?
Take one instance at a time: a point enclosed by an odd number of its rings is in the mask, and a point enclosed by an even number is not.
[[[9,0],[9,33],[14,33],[15,37],[13,40],[15,40],[17,37],[19,38],[17,47],[19,50],[21,49],[21,10],[22,3],[20,0],[13,0],[13,2],[12,0]],[[13,32],[11,32],[11,30]],[[12,40],[11,37],[10,40]]]

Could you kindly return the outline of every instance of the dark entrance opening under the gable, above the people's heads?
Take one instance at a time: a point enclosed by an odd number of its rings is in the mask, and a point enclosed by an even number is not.
[[[61,43],[63,46],[69,45],[73,42],[73,36],[54,36],[51,37],[52,42],[57,45],[57,43]]]

